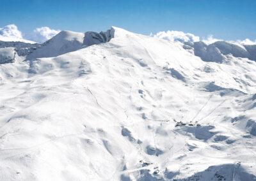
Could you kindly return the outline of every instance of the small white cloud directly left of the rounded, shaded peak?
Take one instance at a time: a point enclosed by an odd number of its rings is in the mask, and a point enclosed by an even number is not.
[[[49,27],[38,27],[33,31],[32,39],[38,43],[43,43],[58,33],[60,33],[60,30],[50,29]]]

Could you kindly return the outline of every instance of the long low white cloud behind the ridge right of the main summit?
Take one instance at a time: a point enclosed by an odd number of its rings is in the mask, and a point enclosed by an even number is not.
[[[180,42],[185,42],[185,41],[195,42],[200,40],[199,36],[195,36],[194,34],[191,34],[191,33],[184,33],[182,31],[160,31],[159,33],[154,34],[153,36],[155,38],[160,38],[160,39],[169,40],[169,41],[180,41]]]

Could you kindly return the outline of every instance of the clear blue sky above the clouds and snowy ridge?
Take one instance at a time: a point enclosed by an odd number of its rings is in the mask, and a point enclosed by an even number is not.
[[[104,31],[111,25],[142,34],[176,30],[224,40],[256,39],[255,0],[0,0],[0,27],[23,34],[36,27]]]

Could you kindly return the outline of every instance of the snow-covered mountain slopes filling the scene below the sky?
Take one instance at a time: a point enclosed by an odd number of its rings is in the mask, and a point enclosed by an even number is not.
[[[109,33],[0,64],[0,180],[256,180],[255,49]]]

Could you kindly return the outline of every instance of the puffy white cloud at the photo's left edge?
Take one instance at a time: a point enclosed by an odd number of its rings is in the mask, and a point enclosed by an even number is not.
[[[2,28],[0,27],[0,36],[1,38],[22,39],[22,34],[15,24],[6,25]]]

